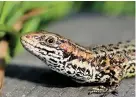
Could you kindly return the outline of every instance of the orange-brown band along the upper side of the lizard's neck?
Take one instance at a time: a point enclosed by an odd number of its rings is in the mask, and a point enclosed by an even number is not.
[[[77,43],[71,42],[70,40],[64,43],[61,43],[59,47],[63,50],[64,56],[71,55],[74,58],[80,58],[84,60],[92,59],[95,56],[95,53],[89,49],[80,46]]]

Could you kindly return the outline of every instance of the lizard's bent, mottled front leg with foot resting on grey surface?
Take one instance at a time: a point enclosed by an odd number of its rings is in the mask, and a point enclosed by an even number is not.
[[[112,65],[107,67],[104,71],[101,72],[103,75],[109,75],[110,77],[99,86],[93,86],[89,89],[89,94],[96,93],[100,94],[101,97],[105,97],[109,93],[117,94],[117,88],[120,84],[120,81],[122,79],[123,73],[122,73],[122,67],[119,65]]]

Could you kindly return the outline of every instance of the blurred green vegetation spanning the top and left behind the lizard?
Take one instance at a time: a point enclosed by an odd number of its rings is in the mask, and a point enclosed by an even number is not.
[[[134,16],[135,2],[1,1],[0,41],[6,40],[9,44],[6,62],[9,62],[9,59],[22,50],[21,34],[40,30],[51,21],[79,12],[100,13],[109,16]]]

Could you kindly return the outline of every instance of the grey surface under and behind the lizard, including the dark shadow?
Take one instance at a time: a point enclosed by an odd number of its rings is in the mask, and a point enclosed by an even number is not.
[[[51,23],[46,30],[85,46],[134,39],[134,18],[78,15]],[[89,86],[79,85],[51,71],[27,51],[16,56],[6,70],[2,97],[99,97],[88,95]],[[134,97],[135,79],[125,79],[116,97]],[[108,97],[115,97],[110,94]]]

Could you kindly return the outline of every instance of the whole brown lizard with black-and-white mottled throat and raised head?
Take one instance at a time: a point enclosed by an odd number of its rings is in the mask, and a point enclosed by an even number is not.
[[[77,83],[99,84],[89,93],[118,93],[124,78],[135,76],[135,41],[89,48],[59,34],[41,30],[22,35],[21,43],[48,67]]]

